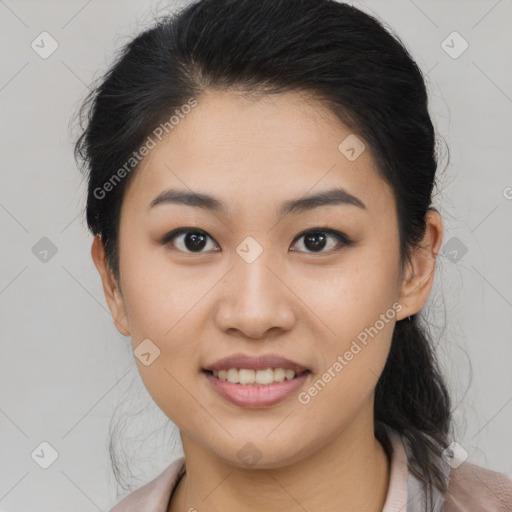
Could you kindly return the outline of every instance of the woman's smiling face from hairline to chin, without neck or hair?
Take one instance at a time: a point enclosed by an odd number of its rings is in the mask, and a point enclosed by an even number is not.
[[[373,417],[394,323],[414,313],[397,306],[395,202],[368,148],[321,104],[296,93],[197,100],[126,190],[122,293],[110,306],[145,386],[188,443],[277,467]],[[307,200],[335,189],[336,201]],[[171,190],[214,199],[152,206]],[[166,238],[178,228],[191,233]],[[205,371],[240,354],[308,372],[258,387]],[[250,382],[257,365],[224,367],[249,370],[238,377]],[[269,376],[283,378],[258,378]]]

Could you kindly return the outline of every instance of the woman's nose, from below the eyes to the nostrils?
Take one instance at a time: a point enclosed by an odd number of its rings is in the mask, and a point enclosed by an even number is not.
[[[216,323],[226,333],[262,339],[294,325],[294,294],[283,266],[270,251],[263,251],[252,263],[236,254],[219,291]]]

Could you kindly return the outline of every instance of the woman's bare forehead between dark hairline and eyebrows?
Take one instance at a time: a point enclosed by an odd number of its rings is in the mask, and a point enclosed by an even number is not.
[[[340,151],[353,136],[322,103],[303,94],[253,99],[208,91],[144,158],[125,200],[130,196],[146,208],[176,186],[259,202],[343,186],[365,203],[389,200],[370,152],[351,161]]]

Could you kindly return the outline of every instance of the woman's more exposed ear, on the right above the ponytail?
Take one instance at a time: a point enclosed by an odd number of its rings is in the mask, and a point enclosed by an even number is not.
[[[425,235],[411,254],[404,270],[399,302],[403,308],[397,320],[418,313],[428,299],[434,283],[436,257],[443,239],[443,223],[436,210],[425,216]]]

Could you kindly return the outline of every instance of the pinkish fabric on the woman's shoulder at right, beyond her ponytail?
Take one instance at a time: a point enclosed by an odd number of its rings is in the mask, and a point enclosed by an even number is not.
[[[512,475],[464,462],[450,471],[443,512],[512,512]]]

